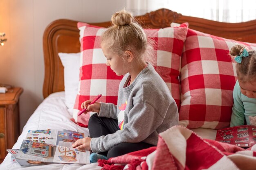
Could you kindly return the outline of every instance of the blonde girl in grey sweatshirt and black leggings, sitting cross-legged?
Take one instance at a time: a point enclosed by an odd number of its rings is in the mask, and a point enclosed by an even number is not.
[[[92,150],[90,160],[109,159],[157,145],[158,134],[178,124],[178,110],[163,79],[148,61],[152,46],[132,13],[112,15],[112,26],[101,36],[107,65],[124,75],[117,105],[82,103],[81,108],[97,112],[90,117],[90,137],[73,147]]]

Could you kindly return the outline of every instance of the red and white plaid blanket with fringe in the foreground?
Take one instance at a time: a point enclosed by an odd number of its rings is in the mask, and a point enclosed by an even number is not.
[[[245,150],[173,126],[159,134],[156,147],[99,160],[99,166],[103,170],[256,170],[256,145]]]

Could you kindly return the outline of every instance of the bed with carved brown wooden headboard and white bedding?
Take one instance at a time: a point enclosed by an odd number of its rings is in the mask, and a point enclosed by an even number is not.
[[[243,23],[222,23],[197,17],[184,16],[168,9],[159,9],[142,16],[135,17],[144,28],[165,28],[172,22],[182,24],[189,23],[189,28],[211,35],[234,39],[250,43],[256,43],[256,20]],[[108,27],[111,22],[91,23],[95,26]],[[43,96],[45,100],[38,106],[18,138],[13,148],[19,148],[29,129],[65,129],[80,131],[88,134],[88,129],[74,124],[70,118],[72,113],[65,106],[64,72],[63,65],[58,57],[59,52],[80,52],[79,30],[77,21],[56,20],[47,26],[43,35],[43,51],[45,60],[45,79],[43,84]],[[215,139],[215,129],[192,129],[202,138]],[[20,169],[18,163],[11,160],[8,154],[0,165],[0,169]],[[35,167],[22,167],[33,169]],[[101,167],[97,163],[89,165],[78,164],[51,164],[37,166],[37,169],[95,169]]]

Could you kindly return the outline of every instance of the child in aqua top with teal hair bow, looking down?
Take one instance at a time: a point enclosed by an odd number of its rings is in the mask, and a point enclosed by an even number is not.
[[[233,46],[229,53],[234,57],[238,80],[234,87],[230,126],[256,126],[256,52],[242,45]]]

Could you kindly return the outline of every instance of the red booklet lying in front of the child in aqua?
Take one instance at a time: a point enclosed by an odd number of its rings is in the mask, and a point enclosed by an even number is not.
[[[240,147],[251,147],[256,144],[256,126],[233,126],[217,131],[216,141]]]

